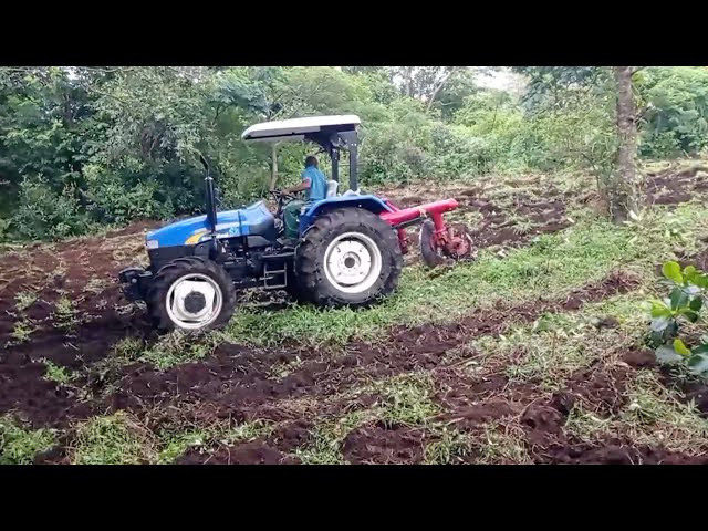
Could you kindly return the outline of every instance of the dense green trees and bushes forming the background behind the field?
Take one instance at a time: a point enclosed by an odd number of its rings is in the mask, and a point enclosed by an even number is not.
[[[459,69],[0,69],[0,239],[63,238],[94,223],[200,211],[196,152],[211,160],[225,208],[263,197],[273,156],[277,184],[290,185],[317,148],[283,143],[273,150],[240,135],[254,122],[294,116],[362,117],[362,187],[510,170],[607,171],[614,93],[603,69],[518,69],[531,80],[521,101],[480,88]],[[438,85],[441,79],[450,81]],[[642,154],[707,147],[706,69],[645,69],[637,88]],[[326,155],[319,156],[326,170]],[[343,164],[342,179],[347,171]]]

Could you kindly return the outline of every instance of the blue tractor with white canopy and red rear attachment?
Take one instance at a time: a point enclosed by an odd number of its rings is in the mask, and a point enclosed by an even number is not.
[[[150,264],[121,271],[125,295],[144,301],[159,330],[198,331],[229,321],[238,290],[285,290],[320,306],[366,306],[392,293],[407,250],[405,227],[421,222],[426,206],[399,210],[358,192],[358,125],[357,116],[317,116],[257,124],[243,132],[246,140],[310,140],[330,155],[327,197],[302,209],[298,238],[285,237],[282,219],[294,196],[273,191],[275,214],[262,200],[218,212],[214,179],[200,157],[207,214],[147,233]],[[337,195],[341,152],[348,153],[350,189]],[[449,200],[442,210],[456,206]],[[428,221],[428,251],[437,242],[448,256],[464,254],[465,242],[455,251],[435,214],[436,226]]]

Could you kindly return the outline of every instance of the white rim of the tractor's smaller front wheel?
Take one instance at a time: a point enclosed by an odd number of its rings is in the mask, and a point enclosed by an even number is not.
[[[187,295],[198,293],[204,296],[204,306],[190,311],[186,304]],[[165,308],[175,325],[185,330],[198,330],[210,325],[221,313],[223,296],[219,284],[201,273],[189,273],[177,279],[165,296]]]

